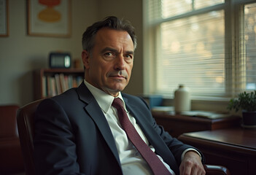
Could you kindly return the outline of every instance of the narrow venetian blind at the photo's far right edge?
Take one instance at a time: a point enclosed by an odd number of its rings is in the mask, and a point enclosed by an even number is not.
[[[241,1],[235,0],[237,5]],[[231,90],[236,96],[244,91],[256,90],[256,3],[238,4],[238,32],[234,40],[238,53],[233,57]]]

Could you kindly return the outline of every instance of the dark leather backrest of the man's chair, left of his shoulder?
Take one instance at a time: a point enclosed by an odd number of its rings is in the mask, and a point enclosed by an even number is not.
[[[17,113],[17,125],[18,133],[20,136],[20,147],[23,152],[23,160],[25,171],[27,175],[34,175],[34,159],[33,159],[33,150],[34,150],[34,115],[36,108],[39,103],[42,101],[34,101],[26,106],[18,109]]]

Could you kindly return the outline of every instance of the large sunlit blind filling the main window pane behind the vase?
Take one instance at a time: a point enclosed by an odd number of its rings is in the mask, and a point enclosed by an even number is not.
[[[158,91],[184,84],[195,96],[225,94],[224,26],[224,11],[162,23]]]

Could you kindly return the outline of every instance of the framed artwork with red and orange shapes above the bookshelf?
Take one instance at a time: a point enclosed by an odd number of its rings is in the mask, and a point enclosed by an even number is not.
[[[27,0],[28,35],[71,36],[71,0]]]

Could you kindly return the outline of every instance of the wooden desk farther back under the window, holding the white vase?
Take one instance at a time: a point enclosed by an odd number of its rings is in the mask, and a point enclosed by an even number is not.
[[[192,117],[179,114],[166,114],[163,112],[152,112],[158,125],[162,125],[173,137],[182,133],[193,131],[216,130],[230,128],[240,125],[241,117],[225,117],[221,119],[208,119],[203,117]]]

